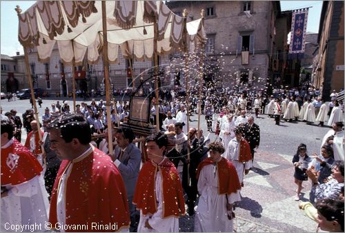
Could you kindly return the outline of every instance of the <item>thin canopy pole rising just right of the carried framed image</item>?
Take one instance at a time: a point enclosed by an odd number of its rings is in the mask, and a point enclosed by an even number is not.
[[[153,23],[153,30],[154,30],[154,39],[153,39],[153,51],[154,51],[154,65],[155,65],[155,110],[156,110],[156,128],[157,132],[159,129],[159,90],[158,90],[158,51],[157,51],[157,36],[158,36],[158,23],[157,18]]]

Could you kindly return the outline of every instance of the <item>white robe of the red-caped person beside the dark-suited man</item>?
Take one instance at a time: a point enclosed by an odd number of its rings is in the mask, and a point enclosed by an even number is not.
[[[228,148],[223,156],[228,159],[236,168],[239,183],[243,183],[244,170],[248,170],[252,167],[252,161],[246,161],[245,163],[239,162],[239,142],[236,138],[231,139],[228,143]]]

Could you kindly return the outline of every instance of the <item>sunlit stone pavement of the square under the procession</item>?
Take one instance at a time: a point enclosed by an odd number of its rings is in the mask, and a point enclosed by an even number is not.
[[[43,99],[43,107],[39,108],[40,117],[44,108],[52,102]],[[69,103],[72,105],[71,100]],[[30,103],[28,100],[1,100],[1,106],[3,113],[15,108],[18,110],[17,115],[21,116],[30,108]],[[291,161],[299,143],[306,143],[308,154],[319,154],[322,138],[330,128],[306,125],[302,121],[275,125],[267,115],[255,118],[255,123],[261,130],[260,146],[255,153],[256,170],[244,176],[242,201],[237,203],[234,229],[237,232],[315,232],[317,224],[298,209],[299,201],[294,201],[296,185]],[[196,114],[191,117],[190,126],[197,126]],[[201,128],[207,136],[204,116],[201,116]],[[23,130],[22,142],[25,139],[26,133]],[[217,137],[210,133],[210,139],[214,141]],[[310,181],[304,181],[301,201],[308,201],[310,188]],[[180,228],[180,232],[193,232],[194,216],[181,217]]]

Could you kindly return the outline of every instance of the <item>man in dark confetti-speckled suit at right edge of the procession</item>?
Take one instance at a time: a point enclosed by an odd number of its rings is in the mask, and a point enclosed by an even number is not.
[[[250,152],[252,153],[252,161],[254,162],[254,149],[257,149],[260,144],[260,128],[254,123],[254,117],[248,117],[248,122],[244,125],[244,139],[250,145]]]

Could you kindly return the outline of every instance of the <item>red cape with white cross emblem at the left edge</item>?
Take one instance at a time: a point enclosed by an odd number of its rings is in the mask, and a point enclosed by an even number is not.
[[[8,148],[1,148],[1,186],[19,185],[34,176],[39,176],[43,170],[32,152],[12,138]]]

